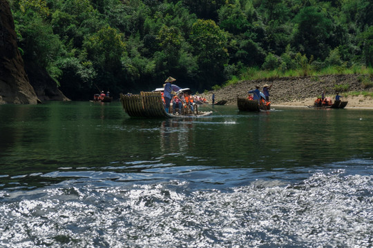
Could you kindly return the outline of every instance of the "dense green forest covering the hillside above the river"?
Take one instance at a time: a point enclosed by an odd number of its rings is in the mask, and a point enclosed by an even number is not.
[[[194,92],[253,71],[303,76],[373,65],[371,0],[8,0],[28,68],[73,100]]]

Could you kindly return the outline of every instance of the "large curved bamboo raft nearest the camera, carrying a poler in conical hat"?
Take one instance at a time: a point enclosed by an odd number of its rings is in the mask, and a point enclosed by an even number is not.
[[[197,107],[195,107],[195,112],[185,111],[183,114],[166,113],[160,92],[140,92],[140,95],[120,94],[120,101],[124,111],[131,117],[186,118],[212,114],[212,112],[199,112]]]

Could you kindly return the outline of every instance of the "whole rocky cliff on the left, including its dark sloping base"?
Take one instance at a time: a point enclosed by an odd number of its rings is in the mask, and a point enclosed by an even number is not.
[[[0,0],[0,104],[36,104],[39,99],[68,100],[46,70],[23,64],[9,3]]]

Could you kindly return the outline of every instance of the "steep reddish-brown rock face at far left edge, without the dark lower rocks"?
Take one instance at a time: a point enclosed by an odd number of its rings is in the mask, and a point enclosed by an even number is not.
[[[0,104],[36,104],[37,101],[17,48],[9,3],[0,0]]]

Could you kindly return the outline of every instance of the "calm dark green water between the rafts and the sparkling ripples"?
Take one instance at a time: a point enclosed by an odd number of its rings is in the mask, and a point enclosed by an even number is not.
[[[373,110],[274,107],[251,113],[211,105],[200,110],[213,110],[213,115],[130,118],[119,102],[0,105],[0,184],[116,180],[111,173],[159,180],[172,169],[203,174],[212,167],[254,169],[265,177],[280,170],[291,178],[293,168],[373,154]],[[180,172],[180,167],[188,169]]]

